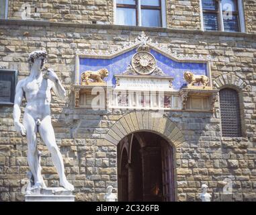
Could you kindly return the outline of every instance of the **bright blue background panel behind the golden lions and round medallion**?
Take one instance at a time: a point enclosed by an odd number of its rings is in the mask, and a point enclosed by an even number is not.
[[[97,71],[99,69],[106,68],[109,71],[109,76],[104,80],[112,85],[116,84],[114,75],[120,75],[126,71],[126,68],[130,64],[132,56],[136,53],[136,49],[131,50],[116,56],[112,59],[93,59],[93,58],[80,58],[79,77],[84,71]],[[170,58],[167,58],[163,54],[155,50],[151,50],[151,54],[155,56],[157,60],[157,66],[163,70],[163,72],[174,77],[173,89],[179,90],[186,85],[183,79],[183,73],[185,71],[191,71],[196,75],[207,75],[207,64],[198,62],[176,62]]]

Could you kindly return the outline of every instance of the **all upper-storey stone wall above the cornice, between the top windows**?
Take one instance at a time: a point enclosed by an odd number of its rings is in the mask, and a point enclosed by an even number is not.
[[[27,5],[24,5],[27,3]],[[9,19],[22,19],[30,5],[31,19],[83,24],[114,24],[114,1],[47,0],[9,1]],[[256,1],[243,1],[246,32],[256,32]],[[36,11],[35,11],[36,10]],[[200,30],[199,0],[166,0],[167,28]]]

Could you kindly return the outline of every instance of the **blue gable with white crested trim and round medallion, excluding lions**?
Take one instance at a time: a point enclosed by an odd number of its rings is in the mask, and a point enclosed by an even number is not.
[[[175,77],[173,89],[179,91],[186,85],[185,71],[210,78],[210,57],[173,53],[170,48],[153,42],[142,32],[134,42],[124,42],[114,50],[78,50],[76,56],[75,84],[81,83],[85,71],[108,69],[105,79],[108,85],[115,85],[114,75],[155,75]],[[211,84],[211,81],[210,81]]]

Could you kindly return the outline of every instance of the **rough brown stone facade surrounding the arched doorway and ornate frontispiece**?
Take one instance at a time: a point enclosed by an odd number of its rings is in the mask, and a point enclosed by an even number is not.
[[[20,3],[21,1],[19,1]],[[93,20],[113,22],[110,1],[76,1],[71,9],[69,1],[39,3],[42,10],[40,19],[67,22],[67,14],[73,14],[75,22],[83,23]],[[99,3],[101,2],[101,3]],[[108,2],[108,3],[107,3]],[[168,25],[171,28],[200,29],[197,16],[198,1],[177,1],[171,10],[177,17],[177,11],[191,9],[185,17],[186,22],[174,22],[169,11]],[[10,11],[17,11],[19,3],[9,1]],[[79,4],[85,5],[89,14],[77,14]],[[245,4],[255,1],[247,1]],[[102,4],[102,5],[101,5]],[[178,5],[183,5],[179,7]],[[189,6],[189,7],[188,7]],[[13,7],[13,8],[12,8]],[[58,7],[58,8],[57,8]],[[61,9],[66,9],[65,14]],[[97,10],[95,9],[97,7]],[[57,8],[59,13],[51,11]],[[90,9],[91,8],[91,9]],[[39,7],[38,7],[39,9]],[[179,10],[177,10],[179,9]],[[43,12],[45,11],[45,12]],[[72,13],[71,13],[72,11]],[[103,11],[103,14],[96,12]],[[39,10],[38,10],[39,12]],[[43,14],[50,14],[43,15]],[[63,13],[63,15],[60,15]],[[245,12],[247,31],[255,32],[253,8]],[[9,13],[17,17],[17,13]],[[56,14],[56,17],[54,15]],[[101,19],[97,19],[97,17]],[[187,17],[187,20],[186,20]],[[74,21],[73,17],[71,18]],[[182,18],[183,19],[183,18]],[[172,21],[173,20],[173,21]],[[178,19],[176,19],[178,20]],[[177,201],[199,201],[202,183],[209,186],[209,193],[214,192],[214,201],[256,201],[256,73],[255,73],[255,34],[237,34],[228,32],[198,32],[187,30],[168,30],[159,28],[120,27],[89,24],[58,24],[26,21],[3,21],[0,24],[0,66],[17,69],[19,79],[27,77],[28,53],[33,50],[46,50],[48,62],[67,90],[65,101],[52,97],[52,124],[56,141],[65,162],[67,177],[75,185],[77,201],[103,200],[108,185],[117,183],[116,144],[123,137],[116,127],[124,128],[124,133],[135,130],[151,130],[169,140],[175,149],[175,196]],[[241,102],[241,120],[243,137],[222,138],[219,103],[216,112],[165,112],[164,118],[151,122],[150,112],[132,112],[128,110],[93,111],[74,108],[72,85],[75,81],[75,53],[77,50],[108,50],[122,46],[123,42],[134,42],[144,30],[152,40],[161,46],[169,47],[180,54],[210,55],[210,67],[213,84],[216,89],[224,86],[237,89]],[[24,101],[25,102],[25,101]],[[0,106],[0,200],[23,201],[21,192],[28,171],[26,160],[26,138],[17,135],[13,126],[12,106]],[[132,115],[136,114],[136,118]],[[128,118],[128,119],[127,119]],[[128,120],[132,125],[127,124]],[[136,121],[136,119],[141,119]],[[145,123],[143,123],[145,122]],[[151,123],[150,123],[151,122]],[[167,126],[173,125],[175,138],[171,138]],[[114,126],[116,125],[116,126]],[[128,126],[127,126],[128,125]],[[147,125],[145,127],[145,125]],[[148,126],[151,125],[151,126]],[[159,125],[159,126],[156,126]],[[114,126],[114,127],[112,127]],[[122,133],[122,132],[121,132]],[[40,141],[40,140],[39,140]],[[42,148],[42,167],[44,179],[48,186],[58,185],[58,176],[52,165],[50,154],[44,144]],[[232,194],[224,194],[223,180],[232,179]]]

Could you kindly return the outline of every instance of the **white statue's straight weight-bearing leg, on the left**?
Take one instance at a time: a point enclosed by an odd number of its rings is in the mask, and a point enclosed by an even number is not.
[[[38,152],[37,152],[37,142],[36,134],[38,132],[36,122],[30,114],[24,114],[23,120],[24,127],[26,128],[26,136],[28,141],[28,165],[30,166],[30,171],[34,176],[35,187],[40,187],[41,177],[38,171]]]

